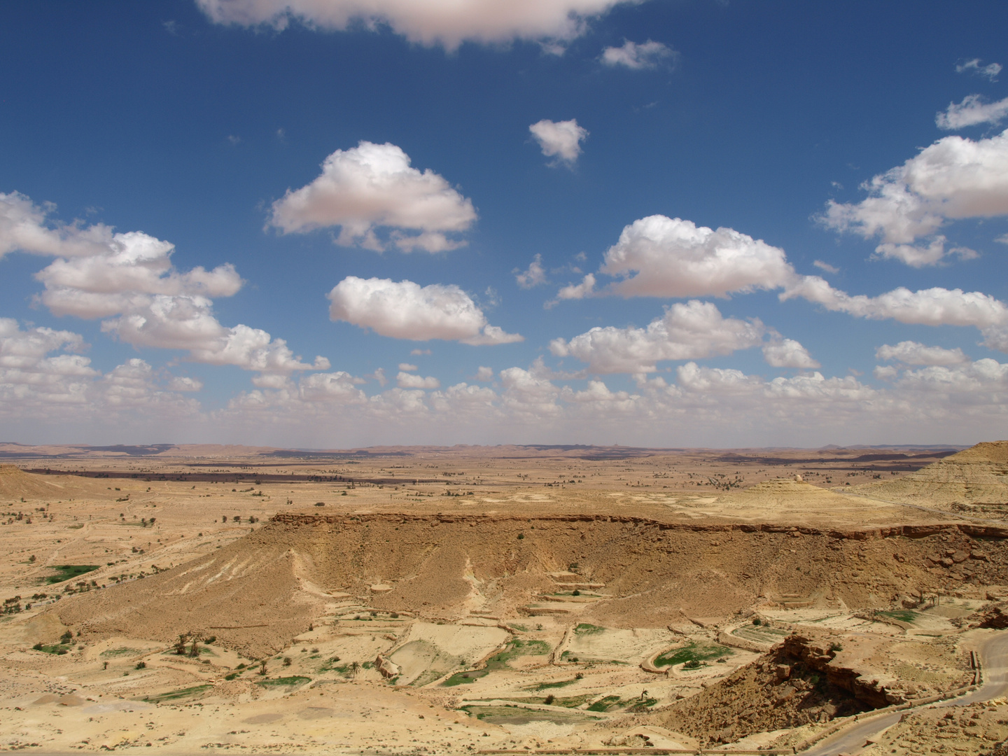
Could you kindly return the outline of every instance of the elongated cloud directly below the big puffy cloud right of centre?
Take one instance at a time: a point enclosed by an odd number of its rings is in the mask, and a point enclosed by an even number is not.
[[[554,339],[549,350],[588,363],[592,373],[650,373],[661,360],[700,359],[758,346],[764,331],[758,320],[726,319],[713,303],[692,299],[672,304],[646,329],[594,328],[570,342]]]

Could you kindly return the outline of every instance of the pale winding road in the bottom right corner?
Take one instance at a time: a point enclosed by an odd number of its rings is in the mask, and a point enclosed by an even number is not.
[[[962,707],[981,701],[990,701],[1008,691],[1008,632],[997,633],[984,638],[976,649],[984,670],[984,681],[971,694],[951,701],[930,704],[932,707]],[[816,743],[802,756],[838,756],[841,753],[854,753],[865,745],[865,741],[876,733],[892,727],[907,711],[893,712],[884,717],[876,717],[850,728],[841,730],[836,735]]]

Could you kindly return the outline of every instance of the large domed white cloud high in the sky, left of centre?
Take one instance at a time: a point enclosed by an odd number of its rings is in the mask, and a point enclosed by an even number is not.
[[[473,203],[443,176],[411,167],[409,155],[394,144],[362,141],[327,157],[311,183],[287,190],[273,203],[270,224],[284,234],[339,226],[338,244],[375,250],[385,247],[375,234],[384,227],[404,252],[444,252],[465,244],[446,234],[465,231],[475,220]]]

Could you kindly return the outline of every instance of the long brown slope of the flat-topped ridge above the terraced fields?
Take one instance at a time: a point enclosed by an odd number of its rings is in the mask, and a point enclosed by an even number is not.
[[[577,564],[585,583],[604,586],[582,621],[665,627],[764,600],[888,608],[921,592],[1008,585],[1006,536],[966,524],[841,531],[592,515],[282,514],[210,554],[52,611],[75,632],[165,642],[212,634],[261,656],[324,616],[334,592],[427,619],[517,617],[555,590],[551,575]]]

